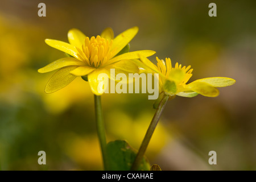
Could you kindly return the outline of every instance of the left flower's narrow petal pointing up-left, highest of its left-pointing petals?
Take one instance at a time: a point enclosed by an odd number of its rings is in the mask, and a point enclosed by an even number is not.
[[[49,46],[59,49],[60,51],[63,51],[65,53],[68,53],[69,55],[76,57],[80,60],[80,58],[77,56],[77,49],[75,46],[59,40],[46,39],[45,41]]]

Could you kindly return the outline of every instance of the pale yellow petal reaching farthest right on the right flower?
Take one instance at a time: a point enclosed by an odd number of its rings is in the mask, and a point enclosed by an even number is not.
[[[230,86],[236,82],[236,80],[232,78],[227,78],[227,77],[209,77],[209,78],[202,78],[196,81],[205,82],[214,87]]]

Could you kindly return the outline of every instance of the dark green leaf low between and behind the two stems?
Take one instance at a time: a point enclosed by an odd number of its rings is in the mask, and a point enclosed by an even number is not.
[[[134,162],[137,151],[134,150],[126,141],[115,140],[107,144],[106,153],[108,157],[109,170],[129,171]],[[144,156],[139,171],[149,171],[150,164]]]

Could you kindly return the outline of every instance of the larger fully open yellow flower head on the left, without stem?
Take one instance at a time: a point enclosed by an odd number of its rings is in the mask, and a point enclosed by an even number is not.
[[[69,43],[59,40],[46,39],[46,43],[72,57],[64,57],[53,61],[46,67],[40,68],[39,73],[51,72],[59,69],[48,81],[45,92],[52,93],[67,86],[76,77],[88,76],[92,92],[96,95],[104,93],[104,88],[98,90],[100,73],[106,73],[110,78],[110,69],[118,73],[137,73],[136,64],[130,59],[137,59],[138,53],[145,57],[151,56],[155,51],[143,50],[127,52],[127,44],[138,32],[138,27],[130,28],[114,38],[112,28],[106,28],[101,35],[88,38],[80,30],[69,30]],[[125,53],[124,53],[125,52]]]

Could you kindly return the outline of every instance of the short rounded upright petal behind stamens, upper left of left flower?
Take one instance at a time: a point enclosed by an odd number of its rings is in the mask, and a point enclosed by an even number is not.
[[[81,48],[82,44],[84,44],[85,38],[86,36],[84,33],[76,28],[72,28],[68,31],[68,41],[72,46]]]

